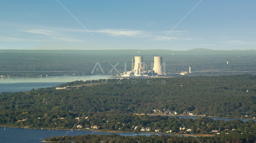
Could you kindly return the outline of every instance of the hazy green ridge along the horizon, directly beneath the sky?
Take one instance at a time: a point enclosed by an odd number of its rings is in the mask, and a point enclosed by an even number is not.
[[[26,54],[78,54],[78,55],[256,55],[256,50],[211,50],[204,48],[190,49],[187,51],[174,50],[1,50],[3,53],[26,53]]]

